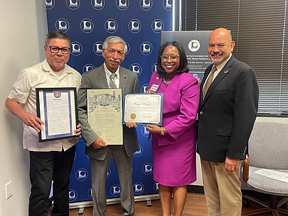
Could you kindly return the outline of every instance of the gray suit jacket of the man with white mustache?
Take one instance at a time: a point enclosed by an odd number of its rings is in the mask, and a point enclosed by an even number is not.
[[[139,80],[136,73],[123,67],[119,69],[119,84],[122,93],[139,93]],[[82,75],[81,86],[77,94],[78,115],[82,125],[82,138],[86,142],[86,154],[97,160],[104,160],[108,148],[95,149],[91,144],[99,138],[91,128],[87,119],[87,89],[109,88],[104,71],[104,64]],[[138,150],[136,128],[127,128],[123,125],[123,145],[127,156],[132,156]]]

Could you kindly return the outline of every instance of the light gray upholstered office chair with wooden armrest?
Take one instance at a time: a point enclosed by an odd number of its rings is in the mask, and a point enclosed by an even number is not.
[[[243,180],[246,180],[252,191],[270,195],[270,202],[267,204],[250,195],[243,195],[243,201],[251,200],[263,208],[242,213],[242,215],[259,215],[267,212],[272,212],[274,216],[279,213],[288,215],[288,210],[280,208],[287,206],[288,183],[255,173],[259,169],[272,169],[288,174],[288,123],[255,122],[248,152],[250,165],[248,167],[247,160],[243,161]],[[249,171],[249,176],[245,176],[247,171]]]

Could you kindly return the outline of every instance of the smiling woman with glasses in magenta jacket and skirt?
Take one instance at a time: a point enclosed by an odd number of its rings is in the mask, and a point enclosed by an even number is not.
[[[157,70],[147,93],[163,93],[163,123],[147,125],[152,134],[154,180],[158,182],[163,216],[182,215],[187,185],[196,180],[195,123],[200,88],[188,73],[188,62],[180,43],[167,42],[158,53]]]

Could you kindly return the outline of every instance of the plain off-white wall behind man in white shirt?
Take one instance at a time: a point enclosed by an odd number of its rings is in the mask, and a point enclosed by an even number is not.
[[[29,154],[22,147],[21,121],[4,106],[21,69],[45,58],[47,34],[44,0],[0,0],[0,216],[27,215]],[[5,184],[12,181],[12,197],[6,200]]]

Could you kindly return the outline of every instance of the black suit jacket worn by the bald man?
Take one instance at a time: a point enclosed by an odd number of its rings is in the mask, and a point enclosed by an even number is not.
[[[204,73],[203,84],[211,71]],[[202,92],[202,91],[201,91]],[[198,113],[197,152],[211,162],[226,156],[244,159],[258,109],[259,90],[253,69],[231,56],[211,84]]]

